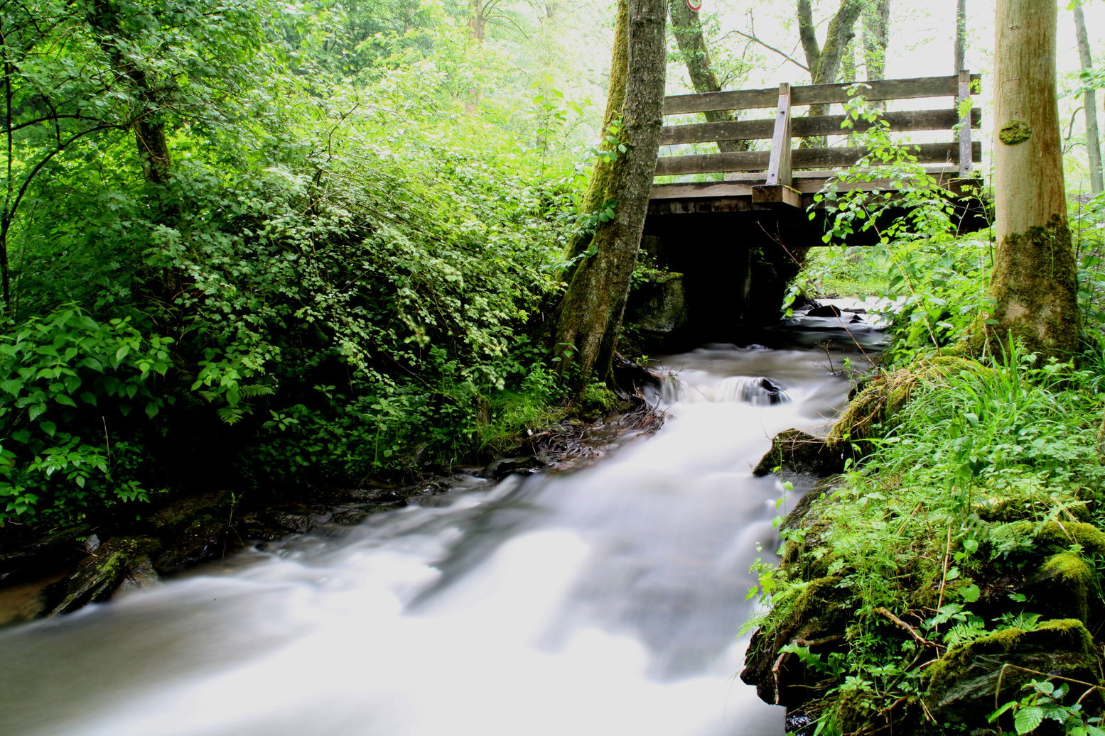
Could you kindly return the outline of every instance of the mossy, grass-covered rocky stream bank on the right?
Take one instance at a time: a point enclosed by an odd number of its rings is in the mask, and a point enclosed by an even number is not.
[[[758,472],[823,476],[779,524],[740,674],[788,730],[998,736],[1028,708],[1036,734],[1099,723],[1096,385],[936,356],[861,384],[827,437],[776,437]]]

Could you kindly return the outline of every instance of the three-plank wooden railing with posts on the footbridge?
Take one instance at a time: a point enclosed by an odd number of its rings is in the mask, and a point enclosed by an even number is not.
[[[919,143],[918,163],[946,164],[940,173],[971,175],[971,163],[981,160],[982,146],[971,140],[971,129],[978,128],[982,110],[972,108],[960,117],[958,102],[970,97],[972,83],[980,75],[960,72],[958,75],[917,77],[911,79],[880,79],[860,86],[857,95],[867,100],[915,99],[922,97],[955,97],[949,109],[927,109],[883,113],[882,119],[892,131],[950,130],[959,125],[957,140],[951,142]],[[834,169],[846,168],[866,154],[866,149],[855,146],[793,148],[794,138],[814,138],[860,132],[870,127],[856,120],[854,127],[843,129],[844,115],[815,115],[796,117],[792,108],[799,105],[846,103],[855,95],[849,88],[855,83],[791,86],[779,85],[778,90],[737,89],[694,95],[674,95],[664,98],[664,114],[708,113],[715,110],[745,110],[775,107],[774,118],[755,120],[725,120],[666,126],[661,145],[704,143],[725,140],[771,140],[770,150],[705,153],[695,156],[665,156],[656,161],[656,175],[697,174],[716,172],[758,172],[737,174],[732,179],[754,185],[753,201],[778,202],[801,206],[801,196],[791,184],[794,172],[807,170],[812,178],[828,178]],[[962,125],[960,125],[962,124]],[[954,166],[955,168],[951,168]],[[727,177],[727,179],[730,179]],[[655,186],[653,196],[678,196],[678,188],[665,193],[663,185]]]

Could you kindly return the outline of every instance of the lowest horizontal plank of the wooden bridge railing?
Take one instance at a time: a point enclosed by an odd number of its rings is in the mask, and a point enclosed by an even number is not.
[[[918,150],[914,150],[914,149]],[[794,169],[838,169],[850,167],[864,156],[867,149],[861,147],[842,148],[798,148],[792,152]],[[959,143],[911,145],[909,153],[918,163],[943,163],[959,161]],[[738,153],[706,153],[702,156],[664,156],[656,159],[656,175],[713,173],[718,171],[761,171],[767,169],[769,151],[741,151]],[[982,143],[971,145],[971,160],[982,160]]]

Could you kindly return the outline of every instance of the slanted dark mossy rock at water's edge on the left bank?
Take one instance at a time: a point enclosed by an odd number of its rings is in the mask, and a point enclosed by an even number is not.
[[[112,537],[90,553],[66,578],[46,589],[50,609],[46,616],[107,600],[131,572],[146,577],[149,555],[160,546],[159,540],[148,536]]]

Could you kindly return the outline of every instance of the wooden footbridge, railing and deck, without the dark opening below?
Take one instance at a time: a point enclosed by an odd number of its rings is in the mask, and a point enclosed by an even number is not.
[[[851,128],[842,128],[845,115],[796,117],[793,108],[803,105],[846,103],[856,94],[870,102],[891,102],[924,97],[948,97],[944,109],[887,111],[882,114],[888,129],[897,131],[953,130],[954,140],[911,147],[917,162],[925,164],[929,175],[940,180],[955,194],[962,193],[966,180],[974,180],[972,163],[981,159],[981,143],[971,139],[971,131],[981,124],[982,111],[972,108],[960,116],[959,100],[971,94],[979,75],[958,75],[881,79],[865,85],[856,83],[791,86],[780,84],[778,90],[739,89],[696,95],[676,95],[664,99],[665,115],[688,115],[722,110],[775,108],[775,116],[764,119],[692,122],[667,126],[661,145],[707,143],[717,141],[770,140],[769,150],[704,153],[696,156],[661,156],[656,175],[724,173],[724,181],[661,183],[652,188],[646,233],[692,225],[686,215],[702,222],[702,215],[764,213],[741,220],[771,221],[786,227],[788,221],[809,223],[806,210],[814,204],[813,195],[840,169],[853,166],[867,150],[856,146],[794,148],[794,139],[825,140],[827,136],[860,132],[871,124],[860,119]],[[862,184],[841,184],[840,190],[891,190],[894,182],[881,179]],[[728,220],[728,218],[727,218]],[[809,228],[804,228],[809,232]],[[812,233],[811,233],[812,234]],[[796,246],[821,245],[818,237]]]

